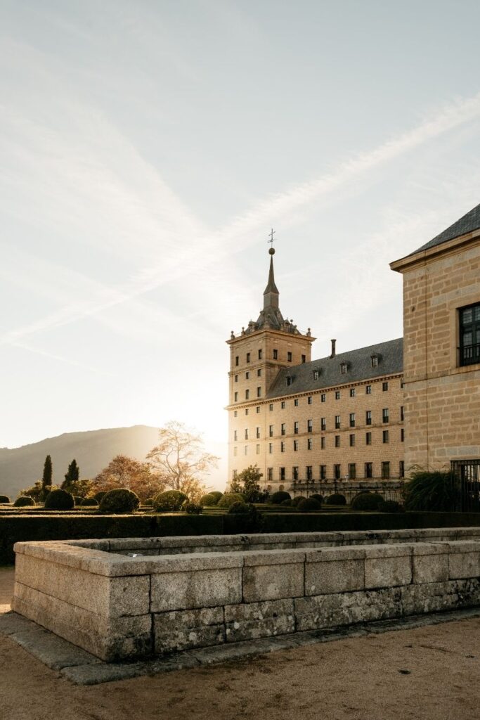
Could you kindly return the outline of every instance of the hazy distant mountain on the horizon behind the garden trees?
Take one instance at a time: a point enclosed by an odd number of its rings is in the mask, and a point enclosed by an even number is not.
[[[68,464],[76,459],[80,477],[95,477],[115,455],[127,455],[144,460],[158,441],[158,428],[135,425],[132,428],[108,428],[82,433],[63,433],[19,448],[0,448],[0,495],[16,498],[19,490],[41,480],[45,457],[53,464],[53,482],[60,485]],[[207,450],[225,456],[220,443]],[[225,461],[208,476],[207,485],[225,489]]]

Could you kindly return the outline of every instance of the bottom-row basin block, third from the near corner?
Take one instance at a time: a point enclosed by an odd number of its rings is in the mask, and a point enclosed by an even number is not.
[[[227,605],[225,626],[227,642],[292,633],[295,631],[294,601]]]

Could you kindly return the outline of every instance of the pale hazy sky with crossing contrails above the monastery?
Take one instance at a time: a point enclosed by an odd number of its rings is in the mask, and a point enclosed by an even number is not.
[[[0,446],[227,438],[268,233],[312,357],[402,336],[389,269],[480,202],[476,0],[0,0]]]

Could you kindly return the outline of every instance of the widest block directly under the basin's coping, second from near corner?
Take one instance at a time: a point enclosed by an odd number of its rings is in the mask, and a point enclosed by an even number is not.
[[[161,572],[151,576],[150,612],[191,610],[232,605],[242,600],[241,567],[191,572]]]

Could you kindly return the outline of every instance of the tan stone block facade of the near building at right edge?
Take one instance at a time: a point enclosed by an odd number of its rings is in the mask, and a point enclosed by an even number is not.
[[[480,230],[391,268],[404,278],[405,469],[480,462],[480,357],[463,364],[460,327],[462,308],[480,306]]]

